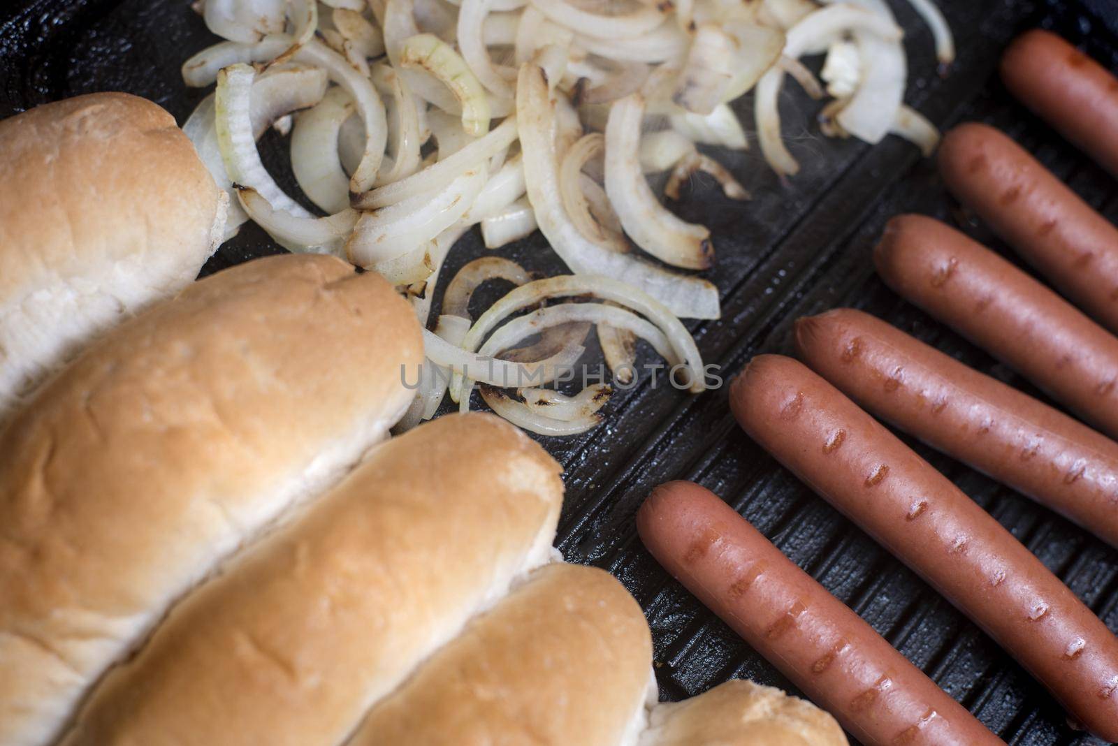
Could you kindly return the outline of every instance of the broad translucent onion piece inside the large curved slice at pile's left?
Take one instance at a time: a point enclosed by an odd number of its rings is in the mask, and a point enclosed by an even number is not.
[[[313,108],[295,119],[291,136],[291,168],[300,189],[325,212],[349,208],[349,176],[338,156],[338,133],[353,113],[344,88],[331,88]]]

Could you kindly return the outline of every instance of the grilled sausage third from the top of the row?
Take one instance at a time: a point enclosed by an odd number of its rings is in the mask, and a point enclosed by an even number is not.
[[[1118,338],[938,220],[889,221],[873,252],[897,293],[1118,437]]]

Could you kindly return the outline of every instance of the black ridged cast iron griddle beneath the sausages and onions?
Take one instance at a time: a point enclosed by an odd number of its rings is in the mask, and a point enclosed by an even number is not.
[[[183,86],[179,67],[217,39],[186,0],[15,4],[0,10],[0,116],[66,96],[117,89],[154,99],[181,124],[205,95]],[[1013,102],[995,75],[1008,39],[1036,25],[1055,28],[1118,69],[1114,0],[940,0],[959,49],[951,74],[942,79],[935,71],[926,28],[906,2],[891,4],[907,31],[910,105],[942,127],[982,119],[1005,130],[1093,207],[1118,219],[1115,181]],[[748,126],[749,99],[742,104]],[[720,364],[729,377],[759,352],[788,352],[796,317],[854,306],[1040,395],[900,300],[873,275],[870,261],[884,221],[903,211],[937,216],[987,245],[1005,247],[946,197],[934,164],[915,147],[897,138],[874,147],[823,140],[812,123],[817,108],[786,84],[785,134],[804,166],[789,184],[777,182],[755,146],[746,154],[716,153],[752,191],[752,202],[726,200],[703,180],[684,195],[680,212],[711,227],[718,255],[708,276],[721,290],[723,316],[690,325],[704,360]],[[297,193],[285,147],[274,134],[262,144],[265,162]],[[246,227],[205,272],[276,251],[264,233]],[[483,251],[476,231],[467,233],[448,259],[444,283]],[[539,233],[499,254],[528,269],[562,270]],[[1068,728],[1051,697],[996,644],[746,438],[728,414],[724,389],[691,396],[667,385],[663,373],[645,374],[637,386],[614,396],[606,423],[597,430],[542,442],[566,467],[559,546],[570,561],[615,573],[642,603],[653,629],[664,697],[699,694],[731,677],[795,691],[672,581],[635,536],[633,516],[648,489],[689,478],[741,510],[1005,740],[1098,743]],[[1118,553],[1012,490],[916,448],[1118,630]]]

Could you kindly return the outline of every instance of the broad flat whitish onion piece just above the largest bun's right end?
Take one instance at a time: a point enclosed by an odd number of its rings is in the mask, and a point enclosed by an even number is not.
[[[458,222],[487,178],[489,166],[482,163],[438,192],[364,213],[345,242],[347,256],[356,265],[369,266],[426,245]]]

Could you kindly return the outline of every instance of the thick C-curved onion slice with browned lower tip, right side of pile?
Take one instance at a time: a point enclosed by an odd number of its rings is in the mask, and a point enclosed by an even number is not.
[[[628,237],[657,259],[676,267],[710,267],[714,248],[704,226],[686,222],[656,200],[641,171],[644,99],[615,102],[606,125],[606,194]]]

